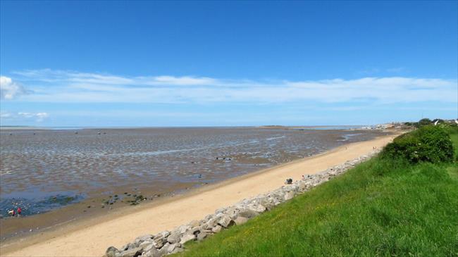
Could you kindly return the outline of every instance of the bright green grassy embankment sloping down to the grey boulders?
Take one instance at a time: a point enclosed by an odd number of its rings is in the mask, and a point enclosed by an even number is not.
[[[452,161],[381,154],[180,254],[458,256],[458,128],[444,131]]]

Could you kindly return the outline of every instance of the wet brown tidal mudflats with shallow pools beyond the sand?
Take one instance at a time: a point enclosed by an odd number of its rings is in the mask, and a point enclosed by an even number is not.
[[[0,213],[26,215],[142,187],[166,192],[321,153],[383,134],[365,130],[139,128],[2,130]]]

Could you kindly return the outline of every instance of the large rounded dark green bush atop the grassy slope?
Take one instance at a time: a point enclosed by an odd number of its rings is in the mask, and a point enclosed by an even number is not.
[[[397,137],[381,153],[382,158],[405,158],[411,163],[453,161],[453,145],[441,127],[428,125]]]

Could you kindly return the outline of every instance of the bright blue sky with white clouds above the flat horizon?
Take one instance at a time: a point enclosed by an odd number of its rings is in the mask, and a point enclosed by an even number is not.
[[[1,1],[1,125],[458,117],[457,1]]]

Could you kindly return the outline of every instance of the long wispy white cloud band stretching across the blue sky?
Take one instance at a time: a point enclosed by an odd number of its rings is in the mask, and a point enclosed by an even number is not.
[[[457,102],[457,80],[362,77],[356,80],[254,81],[211,77],[125,77],[63,70],[14,73],[33,89],[22,101],[123,103],[250,103],[369,101],[378,104]]]

